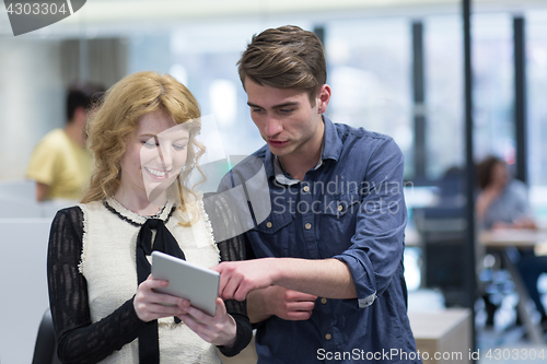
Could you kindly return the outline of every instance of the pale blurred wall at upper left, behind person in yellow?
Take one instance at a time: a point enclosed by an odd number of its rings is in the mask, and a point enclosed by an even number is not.
[[[59,47],[0,36],[0,179],[23,178],[37,141],[65,124]]]

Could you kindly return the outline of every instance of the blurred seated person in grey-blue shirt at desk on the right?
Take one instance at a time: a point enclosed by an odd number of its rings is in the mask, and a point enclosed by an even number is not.
[[[510,177],[504,161],[496,156],[486,157],[477,167],[477,177],[480,192],[475,208],[480,228],[536,228],[526,185]],[[542,315],[542,321],[547,322],[537,290],[539,274],[547,272],[547,257],[536,257],[529,249],[521,249],[520,255],[517,268],[524,284]]]

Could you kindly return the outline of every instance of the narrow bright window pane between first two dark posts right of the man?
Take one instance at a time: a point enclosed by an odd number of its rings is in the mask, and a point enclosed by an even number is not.
[[[424,19],[426,177],[437,180],[465,165],[462,21]]]

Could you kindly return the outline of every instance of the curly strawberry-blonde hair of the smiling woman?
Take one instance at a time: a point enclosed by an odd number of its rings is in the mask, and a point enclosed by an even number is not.
[[[188,122],[189,142],[186,164],[177,177],[184,211],[183,190],[196,197],[187,187],[193,168],[199,169],[197,160],[205,146],[196,141],[200,131],[200,110],[196,98],[182,83],[168,74],[137,72],[112,86],[97,105],[88,122],[90,150],[95,160],[90,186],[82,203],[101,201],[114,196],[120,187],[121,158],[128,137],[137,129],[138,119],[151,111],[162,110],[173,116],[176,124]]]

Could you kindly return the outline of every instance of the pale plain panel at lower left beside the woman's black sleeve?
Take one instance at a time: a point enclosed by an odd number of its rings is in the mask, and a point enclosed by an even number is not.
[[[31,363],[49,306],[46,254],[51,219],[0,219],[0,362]]]

